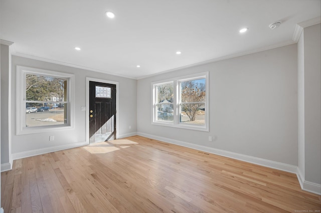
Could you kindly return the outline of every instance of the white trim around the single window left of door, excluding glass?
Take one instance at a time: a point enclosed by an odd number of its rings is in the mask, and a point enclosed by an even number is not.
[[[68,123],[60,125],[46,125],[46,126],[30,126],[26,127],[26,104],[24,104],[25,98],[25,73],[34,73],[40,75],[49,75],[53,77],[69,78],[69,85],[67,85],[67,98],[69,101],[68,105]],[[26,66],[17,66],[17,98],[16,98],[16,109],[17,109],[17,135],[20,134],[31,134],[40,133],[47,131],[58,131],[65,129],[74,128],[74,74],[57,72],[45,69],[38,69]]]

